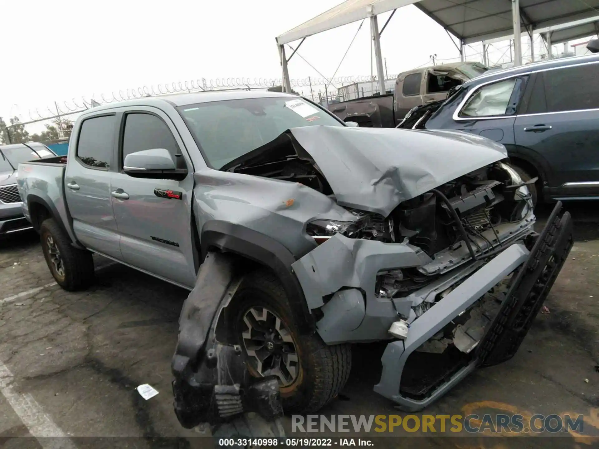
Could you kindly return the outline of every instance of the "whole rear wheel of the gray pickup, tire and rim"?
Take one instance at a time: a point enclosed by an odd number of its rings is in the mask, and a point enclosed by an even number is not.
[[[71,239],[54,219],[40,226],[44,258],[56,283],[65,290],[83,290],[93,282],[92,253],[71,245]]]

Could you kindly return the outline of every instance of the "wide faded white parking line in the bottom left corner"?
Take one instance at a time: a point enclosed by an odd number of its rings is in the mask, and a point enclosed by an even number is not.
[[[40,404],[29,393],[17,393],[13,388],[13,373],[0,360],[0,392],[8,404],[29,429],[29,433],[38,439],[44,449],[76,449],[73,442],[46,415]]]

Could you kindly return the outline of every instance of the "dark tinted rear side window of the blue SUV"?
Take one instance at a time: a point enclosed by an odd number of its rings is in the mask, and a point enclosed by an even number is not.
[[[599,63],[543,72],[547,112],[599,108]]]

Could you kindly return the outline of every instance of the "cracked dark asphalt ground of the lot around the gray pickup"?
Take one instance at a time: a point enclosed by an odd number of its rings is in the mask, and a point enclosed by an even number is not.
[[[452,433],[449,420],[440,432],[439,418],[435,432],[409,432],[412,418],[393,433],[301,434],[286,417],[287,435],[353,437],[356,445],[361,438],[373,447],[599,447],[588,436],[599,435],[599,208],[567,208],[576,243],[516,356],[474,372],[416,417],[521,414],[526,423],[534,414],[582,414],[583,432]],[[549,212],[537,211],[539,226]],[[85,292],[65,292],[35,233],[0,242],[0,447],[209,447],[209,430],[183,429],[173,412],[170,362],[186,290],[101,257],[96,278]],[[384,348],[355,345],[347,386],[320,414],[406,418],[372,391]],[[144,400],[140,384],[159,394]]]

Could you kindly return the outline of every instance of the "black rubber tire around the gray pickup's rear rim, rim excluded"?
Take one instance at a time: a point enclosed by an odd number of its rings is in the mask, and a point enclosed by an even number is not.
[[[47,230],[55,240],[65,265],[65,280],[56,282],[65,290],[75,292],[83,290],[93,283],[94,269],[92,253],[80,250],[71,244],[71,239],[56,223],[55,219],[47,219],[40,226],[40,235]],[[44,245],[45,243],[42,242]],[[50,268],[50,267],[49,267]],[[52,269],[50,269],[52,272]]]

